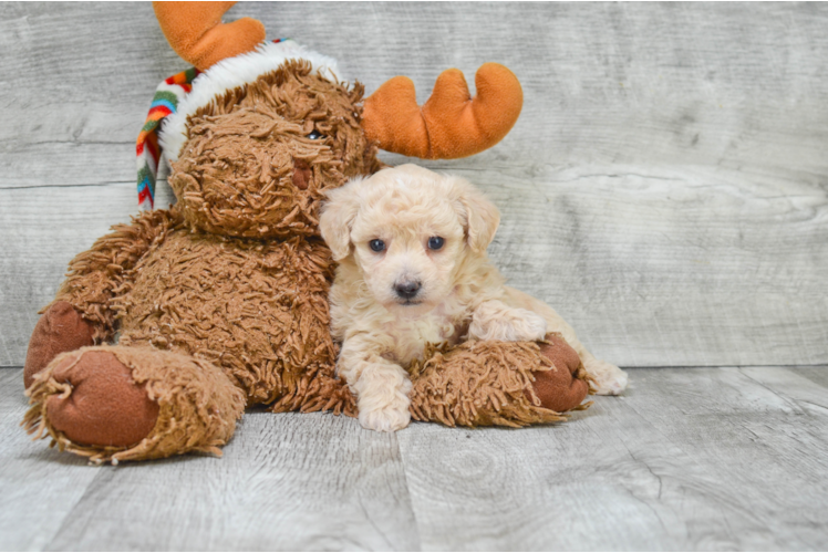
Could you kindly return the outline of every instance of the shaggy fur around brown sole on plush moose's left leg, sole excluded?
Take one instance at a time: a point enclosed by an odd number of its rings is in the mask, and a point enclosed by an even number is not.
[[[146,392],[149,401],[158,405],[154,428],[131,447],[77,444],[59,430],[49,409],[50,398],[62,396],[66,399],[75,393],[72,384],[62,382],[82,366],[73,362],[79,355],[72,352],[55,358],[35,376],[34,384],[27,390],[31,407],[23,424],[35,439],[48,434],[52,446],[89,457],[93,462],[157,459],[188,451],[221,455],[218,448],[232,437],[236,420],[245,409],[245,397],[218,367],[203,359],[151,348],[94,346],[80,349],[84,357],[90,352],[112,354],[132,371],[132,380]],[[66,358],[71,359],[68,366],[63,364]],[[59,367],[61,372],[55,375]],[[96,378],[106,379],[107,375],[99,372],[81,377],[84,384],[93,386],[96,384],[92,380]],[[87,401],[96,399],[107,401],[97,394],[86,397]],[[97,406],[92,410],[96,409]]]

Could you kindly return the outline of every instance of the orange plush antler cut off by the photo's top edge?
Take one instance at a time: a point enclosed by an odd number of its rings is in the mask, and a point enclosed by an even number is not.
[[[199,70],[265,42],[265,25],[242,18],[221,23],[236,2],[153,2],[161,29],[173,50]]]

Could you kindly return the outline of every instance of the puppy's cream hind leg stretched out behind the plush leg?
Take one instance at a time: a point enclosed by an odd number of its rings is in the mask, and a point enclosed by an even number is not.
[[[596,358],[578,340],[575,330],[552,307],[528,294],[506,286],[507,303],[514,307],[534,311],[547,322],[548,332],[560,333],[583,362],[587,373],[594,379],[596,394],[601,396],[618,395],[627,389],[628,376],[615,365]]]

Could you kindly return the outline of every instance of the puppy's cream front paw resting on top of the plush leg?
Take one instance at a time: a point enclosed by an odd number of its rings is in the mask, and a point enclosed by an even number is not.
[[[546,327],[542,316],[490,300],[479,304],[472,313],[468,337],[501,342],[544,340]]]

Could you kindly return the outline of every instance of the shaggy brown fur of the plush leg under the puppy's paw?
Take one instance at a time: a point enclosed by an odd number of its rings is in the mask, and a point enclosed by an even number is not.
[[[415,420],[520,427],[566,419],[541,407],[535,393],[535,375],[555,371],[537,343],[469,341],[451,349],[428,346],[424,358],[425,363],[408,368]]]

